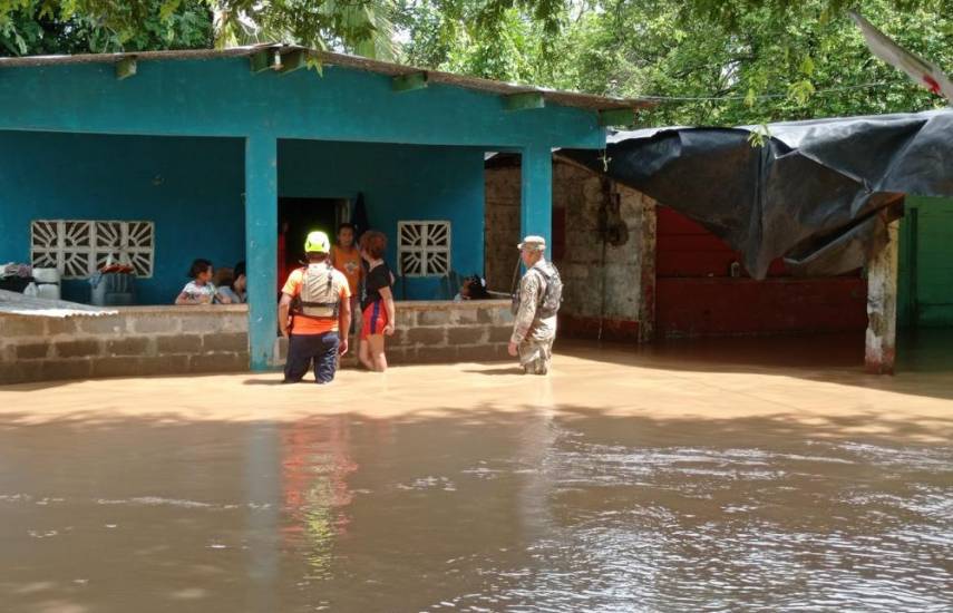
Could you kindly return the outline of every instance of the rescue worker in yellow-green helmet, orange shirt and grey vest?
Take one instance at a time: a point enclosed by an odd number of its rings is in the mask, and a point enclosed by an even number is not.
[[[279,303],[278,322],[288,337],[284,382],[301,381],[313,362],[314,380],[330,383],[338,356],[348,352],[351,290],[348,279],[331,265],[331,241],[325,233],[310,233],[304,253],[308,265],[288,275]]]

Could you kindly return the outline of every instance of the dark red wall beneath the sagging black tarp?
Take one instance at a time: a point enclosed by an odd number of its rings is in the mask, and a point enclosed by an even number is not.
[[[867,286],[848,276],[789,276],[776,261],[766,281],[730,276],[741,254],[691,220],[660,206],[655,335],[704,337],[864,330]]]

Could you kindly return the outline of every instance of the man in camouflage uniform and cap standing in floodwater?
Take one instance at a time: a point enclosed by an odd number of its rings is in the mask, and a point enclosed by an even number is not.
[[[555,313],[541,313],[541,303],[546,290],[546,278],[555,267],[546,261],[546,240],[542,236],[526,236],[519,243],[521,257],[526,274],[519,280],[518,306],[513,335],[509,338],[509,354],[519,357],[519,364],[526,374],[546,374],[553,359],[553,341],[556,339]],[[534,272],[533,269],[539,269]],[[548,317],[543,317],[547,314]]]

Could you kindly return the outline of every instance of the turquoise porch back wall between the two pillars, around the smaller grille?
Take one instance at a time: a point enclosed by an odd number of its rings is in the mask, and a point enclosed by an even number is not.
[[[278,189],[284,197],[364,196],[371,225],[388,235],[397,273],[397,222],[449,221],[450,265],[483,273],[484,150],[315,140],[281,140]],[[439,280],[407,280],[408,298],[432,299]]]

